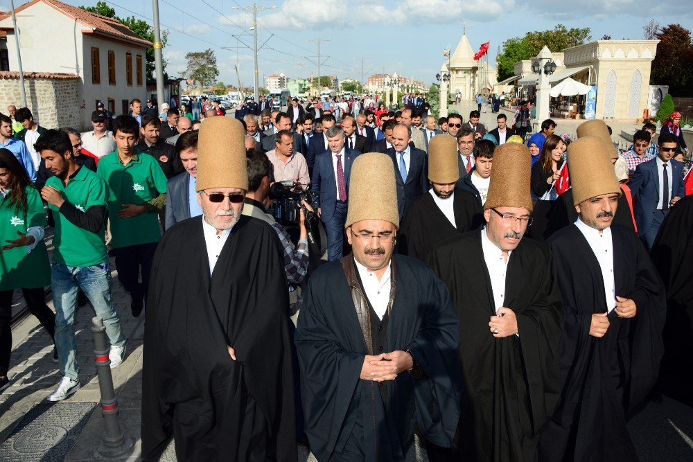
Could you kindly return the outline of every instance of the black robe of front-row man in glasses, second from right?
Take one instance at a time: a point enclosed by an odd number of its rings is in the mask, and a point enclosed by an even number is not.
[[[519,337],[495,338],[489,321],[499,307],[484,261],[481,231],[433,247],[429,264],[450,290],[459,316],[464,376],[459,460],[532,461],[538,437],[561,391],[561,295],[550,251],[523,239],[508,261],[504,305]],[[457,438],[457,437],[456,437]]]

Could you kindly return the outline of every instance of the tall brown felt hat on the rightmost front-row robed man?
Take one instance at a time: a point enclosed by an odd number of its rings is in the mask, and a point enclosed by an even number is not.
[[[621,194],[608,151],[608,145],[597,136],[582,136],[568,146],[573,205],[602,194]]]

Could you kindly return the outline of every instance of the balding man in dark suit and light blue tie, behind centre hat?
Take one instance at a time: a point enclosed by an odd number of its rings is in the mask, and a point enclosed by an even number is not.
[[[397,181],[397,208],[400,219],[407,206],[428,190],[426,152],[410,146],[411,129],[397,124],[392,130],[392,148],[386,152],[394,164]]]

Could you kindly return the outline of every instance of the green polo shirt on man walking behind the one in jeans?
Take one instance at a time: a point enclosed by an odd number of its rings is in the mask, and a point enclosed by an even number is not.
[[[161,226],[159,215],[140,213],[121,218],[118,212],[123,204],[141,205],[160,194],[166,194],[166,175],[159,162],[149,154],[135,154],[128,165],[123,165],[114,151],[98,161],[98,175],[108,185],[108,220],[111,224],[111,245],[114,249],[131,245],[159,242]]]

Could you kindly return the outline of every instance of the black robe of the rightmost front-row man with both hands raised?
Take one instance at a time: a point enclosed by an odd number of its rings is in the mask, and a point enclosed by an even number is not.
[[[589,335],[592,315],[607,310],[597,257],[574,224],[547,242],[554,252],[563,296],[563,391],[541,436],[544,461],[633,461],[638,456],[626,414],[656,381],[663,354],[664,290],[635,233],[612,224],[614,287],[635,301],[635,317],[608,314],[602,338]]]

